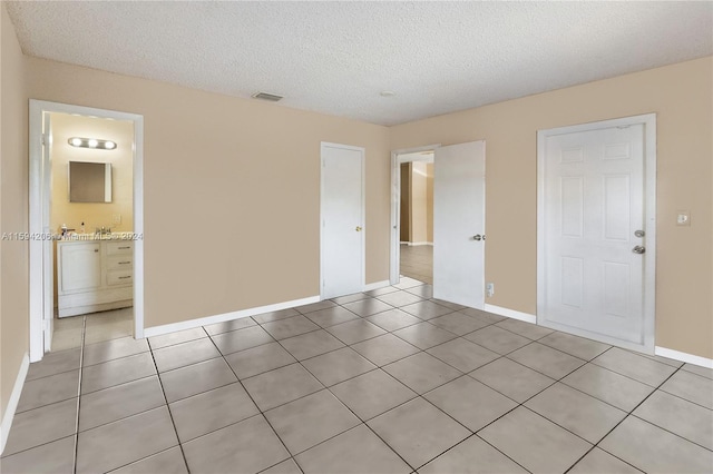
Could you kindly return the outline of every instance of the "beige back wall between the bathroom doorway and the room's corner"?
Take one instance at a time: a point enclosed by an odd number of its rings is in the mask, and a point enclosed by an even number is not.
[[[319,295],[320,142],[367,150],[367,282],[389,278],[389,129],[26,58],[31,98],[144,116],[146,327]]]

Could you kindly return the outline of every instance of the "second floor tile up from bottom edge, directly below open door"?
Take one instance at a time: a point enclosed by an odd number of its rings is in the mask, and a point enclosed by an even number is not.
[[[505,395],[462,376],[423,395],[473,433],[517,406]]]

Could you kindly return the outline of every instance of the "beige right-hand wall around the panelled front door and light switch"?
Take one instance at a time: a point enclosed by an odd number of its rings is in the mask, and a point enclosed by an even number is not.
[[[656,345],[713,357],[713,58],[391,128],[391,148],[485,139],[488,303],[536,313],[536,132],[657,113]],[[691,226],[675,225],[676,209]]]

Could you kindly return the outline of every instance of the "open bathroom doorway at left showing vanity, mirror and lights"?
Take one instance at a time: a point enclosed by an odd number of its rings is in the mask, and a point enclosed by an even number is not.
[[[30,101],[30,361],[143,337],[143,118]]]

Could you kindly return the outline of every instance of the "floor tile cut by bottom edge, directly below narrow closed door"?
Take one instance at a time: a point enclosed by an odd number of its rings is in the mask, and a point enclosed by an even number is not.
[[[411,468],[364,425],[296,456],[305,474],[410,473]]]

